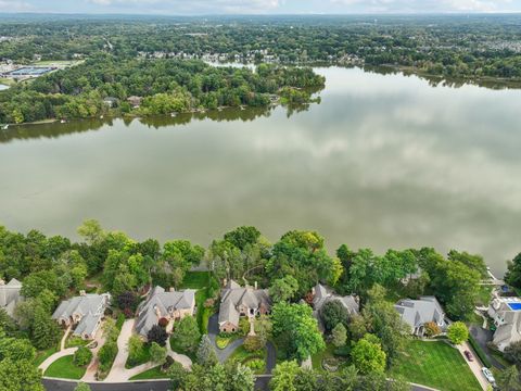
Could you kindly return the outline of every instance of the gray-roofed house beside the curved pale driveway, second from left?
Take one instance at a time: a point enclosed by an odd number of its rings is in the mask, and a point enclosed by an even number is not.
[[[76,325],[73,336],[93,339],[110,302],[110,293],[87,294],[81,291],[79,297],[60,303],[52,318],[63,327]]]

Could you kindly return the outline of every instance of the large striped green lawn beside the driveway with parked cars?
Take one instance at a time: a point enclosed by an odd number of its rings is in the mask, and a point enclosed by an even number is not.
[[[481,389],[461,354],[441,341],[410,341],[396,360],[391,375],[444,391]]]

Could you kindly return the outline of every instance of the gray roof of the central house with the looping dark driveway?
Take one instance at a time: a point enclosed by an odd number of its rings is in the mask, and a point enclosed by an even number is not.
[[[230,280],[220,293],[219,325],[227,321],[239,326],[239,306],[258,310],[271,306],[267,289],[243,288],[233,280]]]

